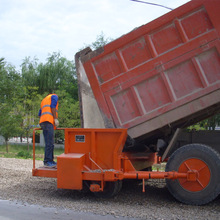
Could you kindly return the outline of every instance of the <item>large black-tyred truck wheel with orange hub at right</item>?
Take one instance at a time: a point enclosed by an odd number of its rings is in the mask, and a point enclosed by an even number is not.
[[[166,180],[168,190],[177,200],[190,205],[203,205],[220,194],[218,152],[202,144],[189,144],[179,148],[168,160],[166,171],[184,173],[188,170],[197,172],[197,181]]]

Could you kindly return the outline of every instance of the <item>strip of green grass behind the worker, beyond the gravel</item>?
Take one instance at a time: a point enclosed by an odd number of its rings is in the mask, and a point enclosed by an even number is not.
[[[54,149],[54,156],[58,156],[64,152],[62,148]],[[29,146],[29,151],[27,145],[9,145],[9,152],[6,152],[6,146],[0,145],[0,157],[5,158],[21,158],[28,159],[33,158],[33,148]],[[42,160],[44,157],[44,147],[35,147],[35,158],[36,160]]]

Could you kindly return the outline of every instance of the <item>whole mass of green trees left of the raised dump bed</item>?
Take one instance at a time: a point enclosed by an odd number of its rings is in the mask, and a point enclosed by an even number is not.
[[[60,126],[78,127],[78,89],[72,61],[60,53],[49,55],[45,64],[26,57],[18,73],[0,59],[0,133],[6,141],[31,134],[39,123],[40,103],[52,90],[59,96]]]

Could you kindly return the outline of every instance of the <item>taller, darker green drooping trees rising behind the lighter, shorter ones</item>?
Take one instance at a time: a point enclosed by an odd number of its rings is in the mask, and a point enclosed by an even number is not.
[[[77,99],[76,71],[73,61],[62,57],[60,53],[53,53],[45,64],[27,57],[23,60],[22,79],[26,86],[38,87],[39,94],[52,90],[65,90]]]

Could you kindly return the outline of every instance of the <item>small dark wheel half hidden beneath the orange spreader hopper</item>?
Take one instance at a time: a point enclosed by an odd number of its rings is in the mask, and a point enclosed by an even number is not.
[[[103,192],[93,192],[98,198],[111,198],[119,193],[122,188],[122,181],[105,182]]]

